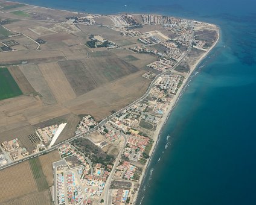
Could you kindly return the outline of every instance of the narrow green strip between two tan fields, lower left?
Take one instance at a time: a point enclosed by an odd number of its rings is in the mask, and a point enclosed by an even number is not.
[[[42,166],[39,161],[39,158],[33,158],[29,160],[30,162],[30,168],[33,172],[34,179],[36,180],[38,191],[43,191],[45,189],[48,189],[48,183],[46,181],[45,175],[43,174]]]

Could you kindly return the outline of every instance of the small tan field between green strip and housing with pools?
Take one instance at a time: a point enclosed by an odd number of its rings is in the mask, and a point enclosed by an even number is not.
[[[48,186],[53,186],[53,162],[60,160],[60,154],[58,150],[54,150],[51,153],[44,154],[39,157],[40,164],[42,166],[43,174],[46,176]]]

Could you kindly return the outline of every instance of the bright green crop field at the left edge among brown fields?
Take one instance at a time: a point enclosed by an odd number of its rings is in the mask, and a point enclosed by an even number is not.
[[[0,100],[22,95],[21,89],[14,81],[7,68],[0,68]]]

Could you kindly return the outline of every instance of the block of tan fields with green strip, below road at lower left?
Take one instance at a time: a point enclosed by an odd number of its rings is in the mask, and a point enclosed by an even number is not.
[[[55,150],[1,170],[0,204],[52,204],[49,187],[53,185],[52,163],[57,160],[60,156]]]

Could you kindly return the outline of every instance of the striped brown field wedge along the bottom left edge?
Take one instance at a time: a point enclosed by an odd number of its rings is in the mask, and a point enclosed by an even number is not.
[[[34,192],[33,194],[25,195],[24,197],[15,198],[14,200],[2,203],[2,205],[31,205],[43,204],[51,205],[51,192],[49,189],[42,192]]]

